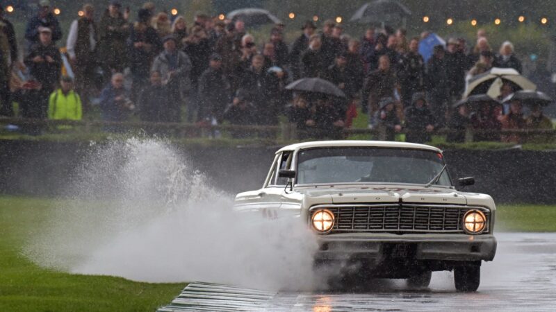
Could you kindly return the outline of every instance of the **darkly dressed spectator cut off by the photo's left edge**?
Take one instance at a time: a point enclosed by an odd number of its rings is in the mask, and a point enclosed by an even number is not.
[[[0,115],[13,116],[10,99],[10,76],[8,70],[11,64],[17,63],[17,41],[13,25],[3,16],[0,5]]]

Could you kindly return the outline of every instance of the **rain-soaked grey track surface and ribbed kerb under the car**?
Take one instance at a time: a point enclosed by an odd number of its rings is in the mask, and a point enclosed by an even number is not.
[[[556,311],[556,234],[496,234],[494,261],[483,263],[477,293],[457,293],[451,272],[430,288],[375,281],[360,293],[270,293],[190,284],[161,311]]]

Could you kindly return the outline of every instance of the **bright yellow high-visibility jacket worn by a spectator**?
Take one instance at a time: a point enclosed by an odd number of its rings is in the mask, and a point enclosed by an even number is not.
[[[50,94],[48,119],[81,120],[83,117],[81,98],[73,90],[65,95],[62,89]]]

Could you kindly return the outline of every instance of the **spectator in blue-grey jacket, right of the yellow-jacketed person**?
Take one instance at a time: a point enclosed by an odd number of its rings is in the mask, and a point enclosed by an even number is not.
[[[100,94],[100,108],[104,121],[125,121],[129,113],[135,108],[124,88],[124,75],[115,73],[112,75],[111,83],[105,87]],[[106,130],[117,130],[107,127]]]

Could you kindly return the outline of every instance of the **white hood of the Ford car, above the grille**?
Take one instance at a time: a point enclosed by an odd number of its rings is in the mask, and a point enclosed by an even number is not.
[[[467,205],[467,196],[455,189],[420,186],[334,186],[297,189],[310,201],[327,201],[323,204],[357,202],[412,202],[446,205]],[[477,194],[478,195],[478,194]]]

